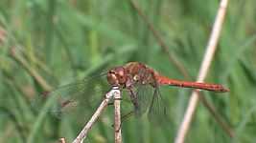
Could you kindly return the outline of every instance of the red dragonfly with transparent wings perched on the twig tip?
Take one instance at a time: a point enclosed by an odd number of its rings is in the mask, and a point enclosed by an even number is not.
[[[139,62],[130,62],[124,66],[115,67],[104,73],[104,75],[106,80],[102,78],[101,80],[97,78],[84,79],[47,93],[47,96],[53,96],[54,100],[58,101],[58,104],[54,104],[52,112],[59,114],[68,109],[68,107],[77,108],[78,105],[82,107],[81,112],[84,112],[86,111],[83,108],[84,106],[92,108],[91,102],[96,99],[96,94],[105,95],[107,91],[103,90],[105,89],[104,87],[108,87],[109,90],[111,87],[119,87],[122,93],[128,94],[128,100],[131,101],[135,113],[142,114],[148,110],[150,117],[151,115],[165,112],[159,91],[159,87],[163,85],[211,92],[229,91],[218,84],[171,79]],[[124,97],[124,94],[122,95]]]

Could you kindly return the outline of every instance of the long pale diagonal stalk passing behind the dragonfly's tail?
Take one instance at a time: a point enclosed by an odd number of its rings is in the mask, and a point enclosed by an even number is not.
[[[203,61],[201,63],[201,67],[198,73],[198,80],[197,80],[198,82],[203,82],[204,78],[206,77],[211,61],[214,57],[214,53],[217,49],[217,43],[220,38],[222,23],[224,20],[227,4],[228,4],[228,0],[221,0],[220,8],[218,10],[214,27],[211,32],[209,42],[203,57]],[[175,138],[175,143],[184,142],[185,136],[188,133],[193,115],[196,112],[198,99],[199,99],[198,91],[192,92],[187,111],[185,112],[185,116],[183,118],[183,121],[178,130],[177,136]]]

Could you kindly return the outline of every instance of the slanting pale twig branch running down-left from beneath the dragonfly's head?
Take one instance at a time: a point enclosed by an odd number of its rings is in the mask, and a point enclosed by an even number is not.
[[[98,107],[96,112],[92,115],[91,119],[87,122],[87,124],[81,130],[81,133],[77,136],[77,138],[73,141],[73,143],[82,143],[82,141],[86,138],[87,133],[91,129],[92,125],[97,121],[99,116],[105,110],[105,107],[108,105],[108,102],[111,98],[115,96],[115,94],[120,94],[118,87],[113,87],[110,92],[105,94],[105,99],[102,101],[101,105]]]

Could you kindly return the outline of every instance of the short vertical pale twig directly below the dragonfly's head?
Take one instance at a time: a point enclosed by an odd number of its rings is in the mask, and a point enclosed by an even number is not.
[[[115,123],[114,123],[114,130],[115,130],[115,143],[122,143],[122,133],[121,133],[121,92],[116,92],[114,94],[114,106],[115,106]]]

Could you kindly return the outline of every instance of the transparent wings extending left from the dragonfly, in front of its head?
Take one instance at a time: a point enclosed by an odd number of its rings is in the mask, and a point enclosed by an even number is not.
[[[33,107],[40,110],[47,100],[51,100],[51,108],[47,112],[58,118],[70,113],[90,114],[109,89],[105,76],[85,78],[39,95],[34,100]]]

